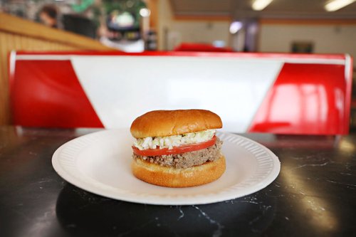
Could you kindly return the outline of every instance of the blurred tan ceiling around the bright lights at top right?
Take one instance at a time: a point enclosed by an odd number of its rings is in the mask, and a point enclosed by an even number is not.
[[[253,0],[171,0],[176,16],[231,16],[283,19],[356,19],[356,1],[335,12],[325,11],[329,0],[274,0],[263,9],[253,11]]]

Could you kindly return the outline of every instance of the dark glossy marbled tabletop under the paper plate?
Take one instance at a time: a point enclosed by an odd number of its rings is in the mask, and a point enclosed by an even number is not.
[[[0,127],[0,236],[356,234],[355,135],[244,134],[279,157],[275,181],[229,201],[155,206],[91,194],[56,174],[53,152],[95,131]]]

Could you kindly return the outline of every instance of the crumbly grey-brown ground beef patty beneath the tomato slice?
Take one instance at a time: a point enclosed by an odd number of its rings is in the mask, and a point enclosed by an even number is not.
[[[221,157],[221,144],[219,138],[216,137],[216,142],[213,146],[206,149],[201,149],[195,152],[185,152],[182,154],[167,154],[156,157],[143,157],[133,154],[133,159],[143,159],[145,161],[160,164],[164,167],[188,168],[194,165],[204,164],[208,161],[214,161]]]

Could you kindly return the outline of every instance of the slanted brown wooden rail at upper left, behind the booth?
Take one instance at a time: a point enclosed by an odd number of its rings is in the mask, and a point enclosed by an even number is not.
[[[98,41],[75,33],[49,28],[40,23],[21,19],[9,14],[0,13],[0,31],[15,33],[31,38],[40,38],[46,41],[63,43],[76,48],[107,51],[112,50]]]

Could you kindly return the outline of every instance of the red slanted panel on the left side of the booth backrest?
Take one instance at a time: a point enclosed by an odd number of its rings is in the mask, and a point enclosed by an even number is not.
[[[18,60],[14,78],[11,83],[14,125],[103,127],[70,60]]]

